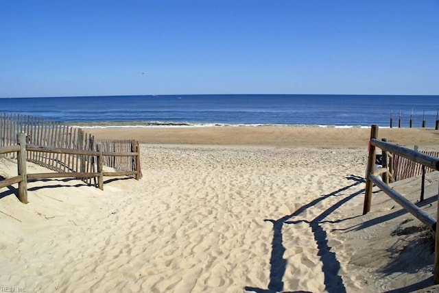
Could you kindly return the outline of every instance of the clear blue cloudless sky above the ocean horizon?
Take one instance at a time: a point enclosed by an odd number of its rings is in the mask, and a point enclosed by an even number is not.
[[[439,1],[1,1],[0,97],[439,94]]]

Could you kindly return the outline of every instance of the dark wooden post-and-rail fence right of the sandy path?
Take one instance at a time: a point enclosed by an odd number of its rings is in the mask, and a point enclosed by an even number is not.
[[[407,212],[410,212],[421,222],[423,222],[429,229],[436,233],[436,244],[435,244],[435,260],[434,260],[434,283],[439,283],[439,227],[436,225],[437,218],[439,218],[439,209],[436,214],[436,219],[429,214],[425,213],[417,205],[414,205],[411,201],[405,199],[405,197],[392,188],[388,186],[388,176],[389,168],[389,153],[393,155],[399,155],[405,157],[405,159],[410,160],[424,166],[425,168],[431,168],[432,170],[439,170],[439,158],[432,157],[418,151],[407,149],[403,146],[398,146],[396,144],[390,144],[386,141],[377,140],[378,136],[378,126],[372,125],[370,131],[370,148],[368,154],[368,166],[366,169],[366,190],[364,193],[364,207],[363,214],[370,212],[370,203],[372,201],[372,187],[378,186],[385,194],[390,196],[396,203],[399,203]],[[375,170],[376,161],[376,148],[381,149],[383,154],[383,168]],[[383,176],[383,179],[378,176],[379,174],[387,175]],[[439,196],[439,195],[438,195]]]

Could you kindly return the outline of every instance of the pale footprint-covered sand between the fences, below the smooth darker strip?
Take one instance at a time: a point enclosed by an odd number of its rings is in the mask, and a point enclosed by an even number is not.
[[[361,288],[360,277],[344,274],[348,257],[334,254],[333,247],[348,248],[333,237],[331,221],[345,218],[333,208],[340,201],[361,205],[353,194],[364,188],[355,177],[364,175],[364,150],[141,151],[141,181],[112,181],[104,192],[39,189],[19,209],[10,196],[2,199],[7,213],[47,216],[15,214],[19,222],[0,215],[8,238],[0,246],[0,283],[28,292]]]

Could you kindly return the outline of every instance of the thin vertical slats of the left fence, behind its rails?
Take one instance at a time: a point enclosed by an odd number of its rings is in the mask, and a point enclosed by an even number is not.
[[[44,146],[58,149],[73,149],[82,151],[102,151],[108,153],[134,153],[139,148],[136,140],[95,140],[91,134],[82,129],[63,125],[62,123],[28,116],[23,114],[0,114],[0,147],[16,145],[16,133],[26,133],[28,146]],[[100,148],[100,149],[99,149]],[[10,156],[16,155],[10,153]],[[103,156],[104,166],[119,172],[134,172],[139,170],[133,156]],[[49,153],[46,151],[27,151],[27,161],[49,168],[60,173],[93,173],[96,172],[95,156],[72,153]],[[141,173],[135,175],[137,179]],[[95,178],[84,178],[92,183]],[[96,183],[96,182],[94,182]]]

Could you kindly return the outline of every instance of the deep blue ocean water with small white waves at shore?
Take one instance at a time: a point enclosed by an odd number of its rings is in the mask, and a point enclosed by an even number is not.
[[[434,127],[439,96],[208,94],[0,99],[0,112],[96,127],[309,125]]]

